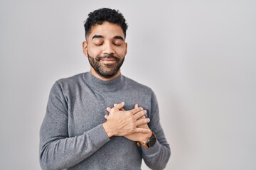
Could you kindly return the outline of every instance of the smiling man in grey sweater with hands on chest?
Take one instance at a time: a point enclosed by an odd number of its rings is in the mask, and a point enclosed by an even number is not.
[[[124,77],[127,23],[100,8],[85,22],[91,69],[55,82],[40,132],[42,169],[164,169],[170,148],[154,92]],[[143,108],[142,108],[143,107]]]

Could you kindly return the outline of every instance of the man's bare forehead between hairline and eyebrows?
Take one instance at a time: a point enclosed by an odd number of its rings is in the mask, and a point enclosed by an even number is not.
[[[104,38],[114,38],[115,36],[124,38],[124,33],[119,25],[106,21],[102,24],[95,24],[92,26],[88,38],[92,39],[94,35],[102,35]]]

